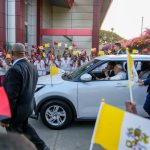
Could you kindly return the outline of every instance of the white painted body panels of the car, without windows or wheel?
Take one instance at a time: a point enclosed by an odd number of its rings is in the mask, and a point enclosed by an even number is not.
[[[97,57],[98,61],[126,61],[126,55],[109,55]],[[150,61],[149,55],[133,55],[134,61]],[[90,81],[74,82],[62,79],[62,74],[39,78],[37,87],[43,86],[35,93],[38,107],[44,100],[63,98],[70,101],[76,111],[77,119],[94,119],[97,116],[101,99],[113,106],[125,109],[125,101],[130,100],[128,80],[119,81]],[[133,99],[136,102],[138,113],[145,116],[143,104],[146,98],[147,87],[133,82]],[[61,99],[61,100],[63,100]]]

